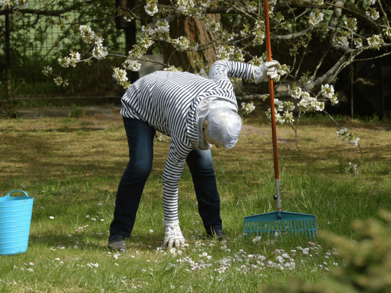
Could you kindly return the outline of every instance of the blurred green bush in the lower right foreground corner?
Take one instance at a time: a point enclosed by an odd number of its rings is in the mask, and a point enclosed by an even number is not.
[[[268,293],[390,293],[391,292],[391,214],[379,211],[387,224],[375,220],[354,221],[360,233],[358,242],[329,232],[320,233],[327,245],[345,258],[346,265],[334,272],[334,279],[316,284],[293,280],[285,288],[268,288]]]

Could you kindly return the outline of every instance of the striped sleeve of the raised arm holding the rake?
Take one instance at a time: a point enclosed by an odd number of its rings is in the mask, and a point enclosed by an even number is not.
[[[223,88],[233,90],[233,85],[229,78],[235,77],[251,80],[253,78],[253,67],[254,65],[252,64],[219,60],[211,66],[211,69],[209,70],[209,79],[214,80]]]

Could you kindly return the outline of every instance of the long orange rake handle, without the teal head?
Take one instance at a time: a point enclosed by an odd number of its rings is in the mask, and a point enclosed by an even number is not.
[[[266,52],[267,61],[272,61],[272,50],[270,46],[270,25],[269,25],[269,4],[264,0],[265,11],[265,33],[266,33]],[[272,139],[273,139],[273,157],[274,157],[274,178],[276,180],[276,195],[277,210],[281,210],[281,196],[280,196],[280,175],[278,172],[278,152],[277,152],[277,132],[276,132],[276,115],[274,109],[274,87],[273,80],[269,77],[269,96],[270,96],[270,114],[272,118]]]

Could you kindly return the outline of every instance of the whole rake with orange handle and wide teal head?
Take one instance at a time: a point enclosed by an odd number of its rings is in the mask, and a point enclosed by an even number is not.
[[[270,26],[269,26],[269,5],[267,0],[264,0],[265,11],[265,31],[266,31],[266,51],[267,61],[272,61],[270,47]],[[269,96],[270,96],[270,112],[272,120],[272,139],[273,139],[273,156],[274,156],[274,178],[276,181],[276,194],[273,198],[277,201],[277,211],[247,216],[244,218],[243,234],[246,237],[262,234],[273,234],[275,237],[282,235],[302,235],[307,238],[315,239],[317,234],[317,226],[314,215],[288,212],[281,210],[281,195],[280,195],[280,177],[278,171],[278,154],[277,154],[277,133],[276,133],[276,117],[274,110],[274,89],[273,80],[269,77]]]

